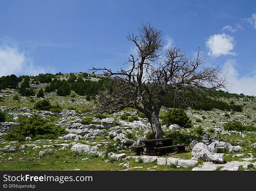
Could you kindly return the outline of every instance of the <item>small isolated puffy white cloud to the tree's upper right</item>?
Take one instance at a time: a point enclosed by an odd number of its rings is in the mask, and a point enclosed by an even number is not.
[[[211,35],[206,41],[206,46],[209,49],[209,56],[236,55],[235,52],[232,52],[235,46],[234,37],[225,33]]]

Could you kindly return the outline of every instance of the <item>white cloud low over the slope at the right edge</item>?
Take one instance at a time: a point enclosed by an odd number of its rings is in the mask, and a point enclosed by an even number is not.
[[[236,60],[229,59],[225,62],[223,72],[227,72],[228,82],[230,83],[230,92],[243,93],[245,95],[256,95],[256,75],[240,76],[235,68]]]

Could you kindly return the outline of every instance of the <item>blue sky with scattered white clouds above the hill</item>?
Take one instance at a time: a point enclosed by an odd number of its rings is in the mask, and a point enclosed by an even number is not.
[[[256,1],[1,0],[0,76],[118,69],[146,22],[189,57],[200,46],[231,92],[256,95]]]

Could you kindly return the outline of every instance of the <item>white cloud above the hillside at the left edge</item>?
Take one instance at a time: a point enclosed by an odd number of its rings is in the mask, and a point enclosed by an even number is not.
[[[19,51],[17,46],[0,46],[0,76],[10,74],[38,75],[39,73],[54,72],[53,68],[35,66],[26,53]]]

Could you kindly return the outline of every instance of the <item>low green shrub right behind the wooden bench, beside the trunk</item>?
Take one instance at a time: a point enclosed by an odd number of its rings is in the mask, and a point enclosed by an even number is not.
[[[186,135],[186,134],[181,134],[179,133],[179,131],[173,131],[173,132],[167,132],[165,133],[165,137],[166,138],[172,138],[173,139],[173,145],[177,145],[177,144],[189,144],[192,140],[198,140],[198,138],[196,138],[193,135]]]

